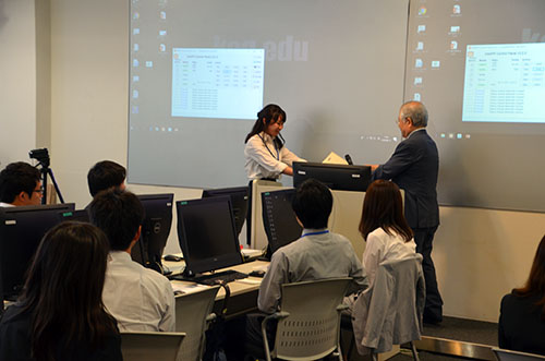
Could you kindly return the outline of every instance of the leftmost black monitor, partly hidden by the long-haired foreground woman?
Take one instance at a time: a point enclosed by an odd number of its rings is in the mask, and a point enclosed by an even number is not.
[[[71,210],[73,203],[0,207],[0,273],[7,299],[15,299],[22,290],[41,238],[61,222],[59,213]]]

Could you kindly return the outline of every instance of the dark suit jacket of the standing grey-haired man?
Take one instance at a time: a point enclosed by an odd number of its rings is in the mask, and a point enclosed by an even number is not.
[[[404,190],[405,218],[411,228],[439,225],[437,176],[439,154],[425,129],[399,143],[388,161],[373,172],[373,180],[390,179]]]

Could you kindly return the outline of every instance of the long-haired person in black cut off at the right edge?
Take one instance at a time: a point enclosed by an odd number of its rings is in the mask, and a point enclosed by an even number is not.
[[[524,287],[501,299],[498,341],[504,349],[545,356],[545,236]]]

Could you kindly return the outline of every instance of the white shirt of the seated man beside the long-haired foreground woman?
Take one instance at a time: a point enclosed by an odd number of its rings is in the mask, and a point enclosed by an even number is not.
[[[123,251],[108,257],[102,302],[121,332],[175,330],[174,291],[156,270],[132,261]]]

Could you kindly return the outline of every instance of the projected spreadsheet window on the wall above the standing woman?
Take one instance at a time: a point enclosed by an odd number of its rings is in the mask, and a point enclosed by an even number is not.
[[[172,117],[255,119],[265,49],[174,48]]]

